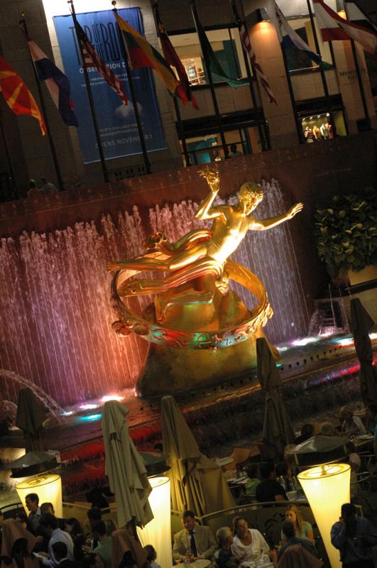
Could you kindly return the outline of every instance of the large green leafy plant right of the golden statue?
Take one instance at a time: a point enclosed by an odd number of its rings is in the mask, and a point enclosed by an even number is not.
[[[332,278],[377,265],[377,192],[334,195],[315,213],[319,258]]]

